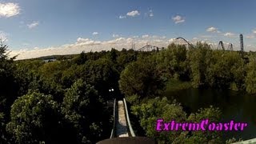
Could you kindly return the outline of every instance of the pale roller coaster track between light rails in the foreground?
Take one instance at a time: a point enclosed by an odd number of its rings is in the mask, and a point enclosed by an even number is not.
[[[117,102],[114,99],[114,122],[110,138],[135,137],[134,130],[130,124],[130,118],[126,105],[126,99]]]

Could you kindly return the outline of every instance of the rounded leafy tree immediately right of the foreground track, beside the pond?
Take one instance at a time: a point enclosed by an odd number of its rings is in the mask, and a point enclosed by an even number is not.
[[[167,98],[154,98],[147,102],[132,106],[132,113],[137,115],[146,136],[155,138],[158,143],[172,143],[179,138],[181,131],[158,132],[155,130],[157,119],[162,118],[165,122],[185,122],[186,113],[177,102],[169,102]]]

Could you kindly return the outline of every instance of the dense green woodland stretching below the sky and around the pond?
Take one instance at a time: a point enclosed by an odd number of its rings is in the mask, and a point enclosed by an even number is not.
[[[161,98],[188,88],[234,89],[256,94],[256,54],[170,44],[165,50],[110,50],[14,61],[0,46],[0,143],[95,143],[109,138],[106,101],[124,96],[139,135],[158,143],[223,143],[220,132],[158,133],[158,118],[218,122],[209,106],[186,114],[180,103]],[[109,90],[114,89],[113,93]],[[230,139],[229,142],[234,142]]]

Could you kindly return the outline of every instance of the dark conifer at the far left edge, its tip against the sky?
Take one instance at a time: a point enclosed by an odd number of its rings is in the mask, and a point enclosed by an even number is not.
[[[10,58],[8,46],[0,39],[0,142],[6,143],[5,125],[10,120],[10,106],[18,97],[18,84],[14,77],[14,59]]]

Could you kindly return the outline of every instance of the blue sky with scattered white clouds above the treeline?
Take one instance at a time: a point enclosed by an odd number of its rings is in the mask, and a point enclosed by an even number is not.
[[[175,38],[256,50],[255,0],[0,0],[0,37],[18,59],[166,47]]]

